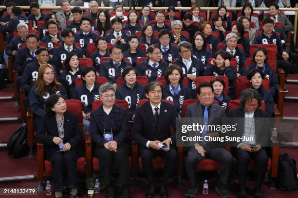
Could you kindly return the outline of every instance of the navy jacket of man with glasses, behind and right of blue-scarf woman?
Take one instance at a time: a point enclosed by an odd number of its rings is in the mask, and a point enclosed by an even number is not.
[[[183,74],[186,76],[187,74],[192,74],[195,75],[196,77],[198,76],[203,76],[203,72],[204,72],[204,65],[203,63],[200,61],[200,59],[191,57],[191,65],[187,71],[187,68],[185,66],[185,64],[182,61],[182,57],[180,57],[178,60],[176,60],[174,62],[174,64],[180,66],[183,70]],[[188,88],[190,90],[191,93],[191,97],[193,99],[196,98],[196,84],[195,82],[193,82],[192,80],[188,79]]]

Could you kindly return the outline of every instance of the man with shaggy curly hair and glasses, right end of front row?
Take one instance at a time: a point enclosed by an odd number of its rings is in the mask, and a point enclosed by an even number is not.
[[[261,95],[255,89],[246,89],[240,95],[240,108],[232,109],[229,117],[237,122],[236,135],[242,137],[241,142],[235,142],[232,148],[233,155],[237,158],[237,172],[240,184],[239,198],[245,198],[245,177],[249,160],[255,161],[255,198],[262,198],[261,185],[267,171],[268,158],[264,146],[270,145],[269,124],[264,117],[267,112],[258,109],[261,106]],[[239,117],[245,117],[239,120]],[[234,136],[234,135],[233,135]],[[245,136],[245,138],[243,138]],[[252,141],[247,141],[252,138]],[[246,140],[244,140],[246,139]]]

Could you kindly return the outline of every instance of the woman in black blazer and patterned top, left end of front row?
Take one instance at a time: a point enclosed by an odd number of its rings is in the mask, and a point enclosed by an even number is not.
[[[41,119],[35,141],[45,145],[45,158],[51,161],[56,198],[62,198],[65,184],[70,188],[70,198],[75,198],[76,160],[81,155],[82,140],[77,117],[66,112],[62,95],[50,96],[45,106],[46,114]]]

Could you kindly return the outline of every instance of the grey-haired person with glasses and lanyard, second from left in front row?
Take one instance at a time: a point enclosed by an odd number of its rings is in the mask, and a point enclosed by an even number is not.
[[[94,110],[90,116],[90,129],[94,144],[94,156],[99,159],[103,181],[107,185],[107,198],[115,197],[112,185],[113,161],[116,163],[122,185],[122,198],[130,196],[130,154],[127,143],[126,110],[116,106],[115,88],[107,82],[99,87],[99,99],[103,105]]]

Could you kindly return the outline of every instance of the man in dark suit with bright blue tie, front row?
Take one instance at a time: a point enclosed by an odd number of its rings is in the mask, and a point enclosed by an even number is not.
[[[200,103],[195,103],[188,106],[185,117],[204,117],[204,125],[222,124],[222,119],[226,118],[225,109],[219,105],[212,104],[214,98],[212,84],[209,82],[201,83],[198,86],[197,97],[200,100]],[[227,184],[230,175],[230,169],[233,165],[233,157],[229,151],[224,149],[223,142],[204,141],[205,137],[208,136],[221,136],[220,132],[208,132],[207,130],[204,130],[202,133],[200,133],[200,136],[202,136],[203,141],[196,142],[193,147],[185,148],[185,167],[190,183],[190,186],[186,189],[185,196],[195,197],[195,194],[198,191],[198,187],[196,185],[197,164],[207,157],[221,163],[219,182],[215,186],[215,191],[222,198],[230,198],[231,196],[229,194]]]

